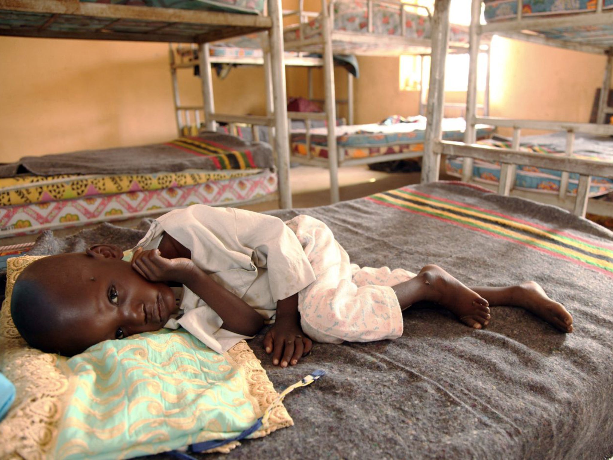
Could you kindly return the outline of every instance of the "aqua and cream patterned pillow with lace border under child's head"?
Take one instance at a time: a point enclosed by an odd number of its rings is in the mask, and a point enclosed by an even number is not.
[[[278,396],[245,341],[219,355],[185,331],[161,329],[107,340],[72,358],[28,347],[10,317],[10,296],[37,258],[7,262],[0,372],[17,395],[0,422],[0,458],[130,458],[231,439]],[[292,424],[276,405],[248,437]]]

